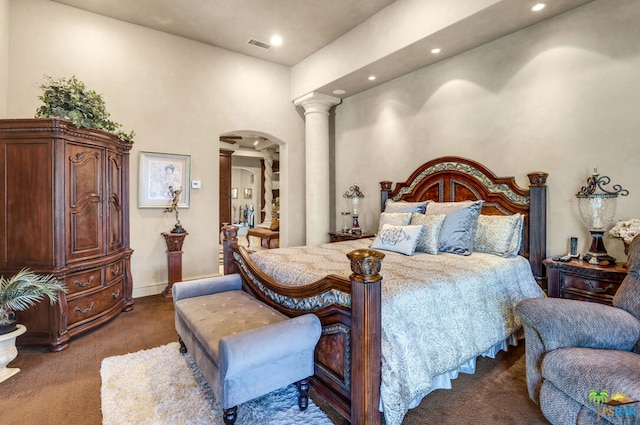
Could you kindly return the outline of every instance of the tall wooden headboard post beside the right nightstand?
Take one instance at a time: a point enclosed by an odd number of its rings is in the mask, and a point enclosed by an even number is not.
[[[547,289],[546,273],[542,260],[547,255],[547,176],[537,171],[529,177],[529,263],[536,281],[542,289]]]

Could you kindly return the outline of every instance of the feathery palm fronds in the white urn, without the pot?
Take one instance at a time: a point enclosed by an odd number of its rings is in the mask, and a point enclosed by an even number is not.
[[[16,311],[25,311],[44,297],[54,304],[58,291],[66,293],[67,288],[52,275],[22,269],[8,279],[0,276],[0,335],[16,329]]]

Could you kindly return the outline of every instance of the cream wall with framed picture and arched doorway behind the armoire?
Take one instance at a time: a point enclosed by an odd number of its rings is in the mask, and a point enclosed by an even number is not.
[[[191,208],[180,211],[189,232],[185,279],[218,272],[220,134],[273,135],[288,156],[283,171],[294,180],[304,175],[304,121],[290,101],[288,67],[42,0],[10,1],[10,31],[7,117],[33,116],[44,74],[76,75],[104,95],[115,121],[136,132],[130,200],[134,296],[166,285],[160,233],[174,224],[162,209],[137,208],[140,151],[191,155],[191,178],[202,181],[202,189],[191,191]],[[287,208],[304,209],[304,187],[287,190]],[[284,242],[301,243],[304,220],[293,217],[286,225]]]

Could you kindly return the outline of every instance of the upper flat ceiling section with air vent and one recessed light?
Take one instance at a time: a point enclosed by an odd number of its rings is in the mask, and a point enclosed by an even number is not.
[[[394,0],[53,0],[293,66]],[[284,44],[265,50],[250,39]]]

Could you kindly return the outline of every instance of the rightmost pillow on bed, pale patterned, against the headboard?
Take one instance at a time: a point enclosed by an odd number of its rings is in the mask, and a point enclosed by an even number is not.
[[[520,251],[524,216],[480,215],[473,250],[501,257],[515,257]]]

